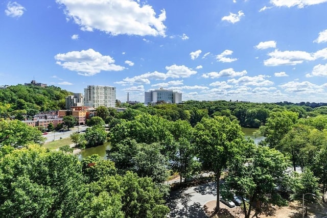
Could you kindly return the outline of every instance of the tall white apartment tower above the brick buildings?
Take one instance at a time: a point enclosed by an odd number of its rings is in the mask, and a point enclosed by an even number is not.
[[[116,88],[112,86],[87,86],[84,89],[84,106],[97,108],[105,106],[114,108]]]

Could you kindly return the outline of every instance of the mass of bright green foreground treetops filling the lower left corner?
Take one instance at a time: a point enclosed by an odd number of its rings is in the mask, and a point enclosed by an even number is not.
[[[150,178],[116,175],[97,155],[81,162],[39,146],[0,148],[1,217],[164,217],[169,212]]]

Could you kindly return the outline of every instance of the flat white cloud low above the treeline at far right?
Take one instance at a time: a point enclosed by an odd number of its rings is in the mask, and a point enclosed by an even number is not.
[[[304,82],[288,82],[283,85],[280,85],[281,88],[283,88],[287,92],[295,92],[295,93],[323,93],[324,89],[322,86],[318,86],[315,84],[312,84],[308,81]]]

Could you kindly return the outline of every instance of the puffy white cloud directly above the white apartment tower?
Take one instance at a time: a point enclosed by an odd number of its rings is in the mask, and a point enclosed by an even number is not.
[[[110,56],[104,56],[93,49],[73,51],[55,56],[56,64],[65,69],[77,71],[79,75],[93,76],[101,70],[120,71],[125,69],[123,66],[115,65]]]

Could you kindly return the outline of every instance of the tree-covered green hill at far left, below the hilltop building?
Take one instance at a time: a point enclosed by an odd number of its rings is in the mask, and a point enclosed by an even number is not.
[[[0,117],[12,115],[14,111],[35,114],[65,108],[65,97],[70,91],[56,86],[16,85],[0,89]],[[16,113],[18,113],[16,112]]]

